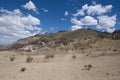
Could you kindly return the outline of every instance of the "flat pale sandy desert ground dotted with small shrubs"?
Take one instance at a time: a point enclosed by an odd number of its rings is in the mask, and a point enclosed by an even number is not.
[[[120,80],[120,50],[1,51],[0,80]]]

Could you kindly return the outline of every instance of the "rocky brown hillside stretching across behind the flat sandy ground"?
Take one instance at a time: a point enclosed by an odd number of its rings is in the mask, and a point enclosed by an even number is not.
[[[7,49],[19,49],[27,45],[40,46],[42,42],[44,42],[48,47],[51,47],[53,44],[54,47],[60,47],[61,44],[67,47],[72,44],[74,48],[79,48],[81,46],[92,48],[102,48],[106,46],[107,48],[111,48],[114,45],[117,45],[115,48],[120,48],[118,45],[120,43],[120,30],[115,31],[112,34],[92,29],[36,34],[35,36],[30,36],[14,42]]]

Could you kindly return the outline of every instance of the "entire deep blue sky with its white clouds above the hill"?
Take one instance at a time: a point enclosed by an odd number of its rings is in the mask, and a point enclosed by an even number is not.
[[[120,29],[120,0],[0,0],[0,44],[37,33]]]

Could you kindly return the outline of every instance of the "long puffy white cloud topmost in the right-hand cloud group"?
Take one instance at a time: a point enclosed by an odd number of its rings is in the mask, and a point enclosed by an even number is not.
[[[77,10],[77,13],[74,14],[74,16],[84,16],[85,12],[88,15],[102,15],[105,13],[110,12],[112,9],[112,5],[102,6],[101,4],[95,4],[88,6],[88,4],[85,4],[82,6],[82,9]]]

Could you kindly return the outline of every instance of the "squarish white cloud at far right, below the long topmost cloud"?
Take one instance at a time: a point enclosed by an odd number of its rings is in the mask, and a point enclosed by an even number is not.
[[[99,25],[97,26],[98,29],[105,29],[114,27],[116,24],[116,15],[114,16],[99,16],[98,17]]]

